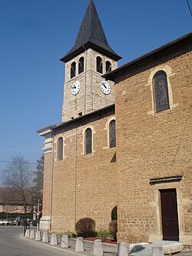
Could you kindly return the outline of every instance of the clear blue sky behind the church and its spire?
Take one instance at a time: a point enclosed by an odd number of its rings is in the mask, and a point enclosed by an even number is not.
[[[0,161],[22,154],[36,162],[44,142],[36,131],[61,121],[59,58],[73,46],[88,1],[0,0]],[[123,57],[119,66],[191,32],[187,0],[94,4],[109,45]]]

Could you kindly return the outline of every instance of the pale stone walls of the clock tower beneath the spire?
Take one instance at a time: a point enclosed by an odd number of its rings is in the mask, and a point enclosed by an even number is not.
[[[62,121],[78,118],[79,113],[85,115],[91,111],[114,104],[114,83],[109,81],[111,84],[111,93],[109,95],[104,95],[101,91],[100,83],[104,78],[101,78],[102,74],[96,71],[96,58],[98,56],[103,60],[104,70],[105,62],[107,61],[111,62],[112,70],[117,68],[117,62],[98,52],[94,52],[91,48],[66,63]],[[81,57],[84,57],[84,72],[78,75],[78,60]],[[77,75],[74,78],[70,78],[72,62],[76,62]],[[71,86],[77,80],[81,83],[80,91],[77,95],[72,95]]]

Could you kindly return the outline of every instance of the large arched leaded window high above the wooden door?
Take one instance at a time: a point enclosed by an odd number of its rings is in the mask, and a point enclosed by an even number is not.
[[[154,86],[154,107],[155,111],[169,109],[169,95],[167,87],[167,74],[165,71],[157,71],[153,78]]]

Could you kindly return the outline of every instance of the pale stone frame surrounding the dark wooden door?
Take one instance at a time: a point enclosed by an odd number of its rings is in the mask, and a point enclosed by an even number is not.
[[[156,215],[156,232],[155,234],[149,235],[149,240],[151,242],[157,240],[163,240],[163,228],[162,228],[162,218],[161,218],[161,189],[175,188],[177,193],[177,214],[178,214],[178,226],[179,226],[179,241],[180,237],[184,235],[184,210],[181,204],[181,191],[180,191],[180,181],[173,182],[161,182],[154,184],[154,214]]]

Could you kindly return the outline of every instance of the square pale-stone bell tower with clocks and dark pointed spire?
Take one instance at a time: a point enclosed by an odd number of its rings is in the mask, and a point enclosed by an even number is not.
[[[108,45],[93,0],[89,1],[73,48],[65,62],[62,121],[114,103],[114,84],[101,75],[118,68],[121,59]]]

